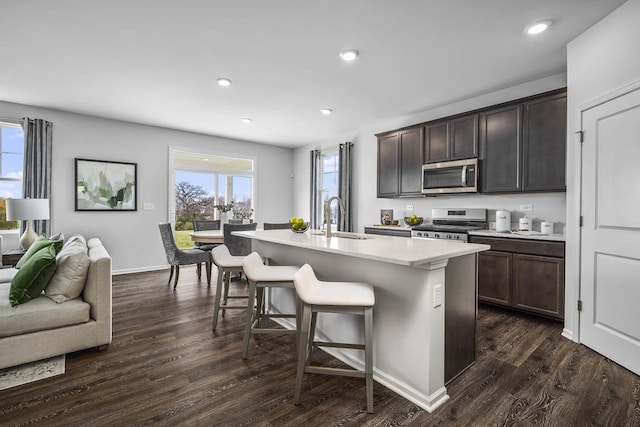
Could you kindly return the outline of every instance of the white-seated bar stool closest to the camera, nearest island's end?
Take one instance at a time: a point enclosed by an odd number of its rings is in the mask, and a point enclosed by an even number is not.
[[[293,403],[300,404],[302,377],[312,374],[342,375],[365,378],[367,412],[373,413],[373,286],[358,282],[323,282],[317,279],[309,264],[298,270],[293,278],[300,310],[300,338],[298,341],[298,372]],[[359,314],[364,316],[364,344],[314,341],[316,318],[319,312]],[[364,372],[354,369],[311,366],[313,346],[364,350]]]

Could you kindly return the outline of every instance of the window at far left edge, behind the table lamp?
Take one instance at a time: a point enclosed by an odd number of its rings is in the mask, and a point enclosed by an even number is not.
[[[20,221],[7,221],[6,199],[22,198],[24,132],[16,123],[0,122],[0,230],[17,230]]]

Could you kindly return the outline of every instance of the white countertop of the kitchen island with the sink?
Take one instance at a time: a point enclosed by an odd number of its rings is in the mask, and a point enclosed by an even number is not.
[[[371,259],[391,264],[416,266],[489,250],[489,245],[459,243],[438,239],[407,239],[377,234],[342,233],[361,237],[333,236],[327,239],[319,230],[294,233],[291,230],[236,231],[237,236],[317,251]]]

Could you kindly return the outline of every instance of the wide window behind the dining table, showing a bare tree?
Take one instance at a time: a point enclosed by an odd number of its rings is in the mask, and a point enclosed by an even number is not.
[[[229,218],[253,218],[254,160],[172,150],[174,209],[172,219],[179,246],[191,245],[193,220],[219,219],[214,205],[233,202]],[[187,236],[181,241],[180,234]]]

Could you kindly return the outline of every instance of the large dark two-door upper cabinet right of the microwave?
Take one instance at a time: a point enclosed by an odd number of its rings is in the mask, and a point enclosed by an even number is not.
[[[566,91],[480,113],[481,192],[565,191]]]

